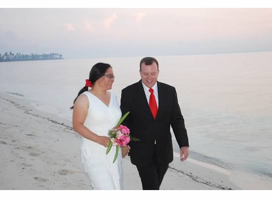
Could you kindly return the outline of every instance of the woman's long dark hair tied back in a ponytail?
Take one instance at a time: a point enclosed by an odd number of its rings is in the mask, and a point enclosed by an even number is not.
[[[107,63],[102,63],[102,62],[98,62],[95,65],[92,66],[91,71],[90,71],[90,75],[89,75],[89,80],[92,83],[92,86],[94,85],[94,83],[101,78],[107,71],[108,68],[112,68],[110,66],[110,64]],[[88,87],[84,86],[78,93],[78,96],[76,97],[76,99],[74,99],[74,103],[76,102],[77,98],[79,97],[79,95],[81,95],[83,92],[88,91]],[[72,106],[70,109],[73,109],[74,106]]]

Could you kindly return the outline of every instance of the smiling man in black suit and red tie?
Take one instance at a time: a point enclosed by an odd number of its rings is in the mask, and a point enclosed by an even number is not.
[[[122,90],[122,113],[130,111],[123,122],[131,136],[131,162],[136,165],[143,190],[159,190],[163,177],[173,161],[170,125],[181,148],[181,161],[189,153],[187,131],[178,103],[176,89],[158,82],[159,63],[153,57],[140,61],[141,80]]]

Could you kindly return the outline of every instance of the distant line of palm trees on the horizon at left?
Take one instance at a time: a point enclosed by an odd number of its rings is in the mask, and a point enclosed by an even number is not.
[[[55,59],[63,59],[62,54],[60,53],[31,53],[23,54],[23,53],[12,53],[11,51],[5,52],[3,55],[0,54],[0,62],[8,62],[8,61],[23,61],[23,60],[55,60]]]

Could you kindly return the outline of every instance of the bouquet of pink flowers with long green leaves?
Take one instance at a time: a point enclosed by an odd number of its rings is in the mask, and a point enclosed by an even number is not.
[[[126,119],[126,117],[129,114],[130,114],[130,111],[127,112],[125,115],[123,115],[123,117],[119,120],[118,124],[115,127],[113,127],[111,130],[109,130],[109,133],[108,133],[111,141],[106,150],[106,154],[109,153],[112,146],[116,146],[116,152],[113,159],[113,163],[117,159],[119,147],[127,146],[131,140],[137,141],[136,138],[132,138],[130,136],[130,129],[124,125],[121,125],[121,123]]]

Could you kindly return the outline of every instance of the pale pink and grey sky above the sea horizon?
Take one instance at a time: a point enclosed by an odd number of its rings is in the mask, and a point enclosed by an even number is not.
[[[64,58],[272,51],[272,8],[0,8],[0,53]]]

